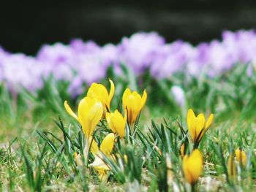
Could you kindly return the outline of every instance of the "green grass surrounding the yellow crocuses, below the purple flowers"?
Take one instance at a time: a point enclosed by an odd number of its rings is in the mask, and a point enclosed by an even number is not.
[[[222,77],[187,77],[176,74],[170,80],[152,80],[147,74],[114,77],[115,99],[128,85],[148,92],[146,107],[132,137],[118,140],[114,147],[118,162],[104,156],[110,166],[108,182],[101,182],[83,158],[84,137],[80,126],[64,111],[70,101],[67,82],[45,81],[35,94],[21,91],[12,95],[0,86],[0,188],[2,191],[189,191],[182,174],[181,143],[187,141],[187,110],[213,112],[214,123],[200,142],[203,174],[196,191],[253,191],[255,189],[256,74],[246,75],[238,66]],[[127,72],[129,73],[129,72]],[[143,80],[143,83],[139,84]],[[108,80],[102,81],[108,85]],[[178,107],[170,95],[171,85],[181,85],[187,105]],[[77,106],[78,97],[70,103]],[[207,115],[206,115],[207,116]],[[99,128],[101,127],[101,128]],[[181,131],[184,130],[185,132]],[[99,123],[98,142],[110,130]],[[228,158],[234,150],[246,152],[246,166],[238,166],[236,177],[228,174]],[[83,165],[75,164],[74,153],[82,155]],[[127,156],[128,161],[124,156]],[[89,153],[89,163],[94,155]]]

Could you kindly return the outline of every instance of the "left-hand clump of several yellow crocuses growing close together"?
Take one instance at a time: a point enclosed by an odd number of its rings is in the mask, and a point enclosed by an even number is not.
[[[67,101],[64,102],[64,107],[69,115],[80,123],[83,133],[86,136],[84,153],[86,157],[90,150],[94,154],[95,160],[90,166],[99,172],[99,178],[102,180],[107,178],[107,171],[109,170],[108,165],[103,161],[104,156],[115,160],[115,156],[111,154],[115,142],[115,134],[119,139],[124,139],[126,125],[129,128],[134,128],[135,120],[137,120],[147,99],[146,91],[144,91],[143,96],[140,96],[136,91],[131,92],[127,88],[123,95],[124,115],[122,115],[118,110],[115,110],[115,112],[111,112],[110,110],[110,102],[114,92],[115,85],[112,80],[110,80],[109,92],[104,85],[93,82],[86,97],[78,104],[78,115],[71,110]],[[108,127],[113,133],[105,136],[100,147],[98,147],[97,142],[94,140],[94,129],[100,120],[106,120]],[[75,159],[77,164],[80,164],[78,162],[81,161],[77,153],[75,153]]]

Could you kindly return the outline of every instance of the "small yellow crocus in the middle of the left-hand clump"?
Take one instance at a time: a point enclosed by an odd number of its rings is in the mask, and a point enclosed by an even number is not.
[[[121,115],[118,110],[115,110],[115,112],[107,113],[106,115],[108,125],[110,129],[119,135],[119,137],[122,139],[124,138],[125,134],[125,124],[127,123],[127,115]]]

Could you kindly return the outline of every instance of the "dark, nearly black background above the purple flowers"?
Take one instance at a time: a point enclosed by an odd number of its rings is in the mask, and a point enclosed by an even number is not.
[[[256,1],[1,1],[0,45],[34,55],[45,44],[93,39],[118,43],[137,31],[167,42],[220,38],[222,31],[256,28]]]

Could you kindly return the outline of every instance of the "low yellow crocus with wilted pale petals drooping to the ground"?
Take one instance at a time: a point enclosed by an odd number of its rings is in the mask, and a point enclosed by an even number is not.
[[[107,164],[103,161],[104,154],[107,157],[110,157],[110,154],[112,153],[113,146],[115,142],[115,135],[113,133],[108,134],[102,141],[102,144],[100,145],[99,152],[95,155],[95,160],[92,164],[90,164],[91,167],[93,167],[97,172],[99,173],[99,179],[105,180],[107,178],[107,171],[110,169]]]

